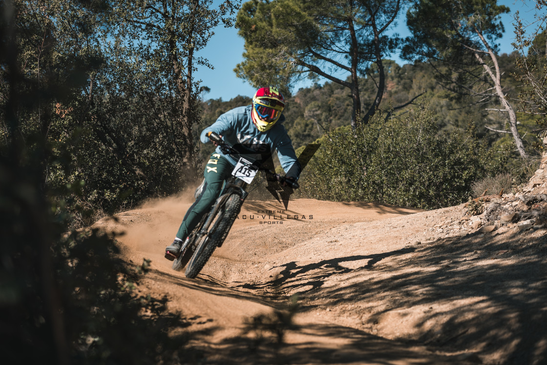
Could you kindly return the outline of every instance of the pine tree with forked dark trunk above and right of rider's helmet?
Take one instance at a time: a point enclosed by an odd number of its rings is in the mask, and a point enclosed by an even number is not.
[[[254,86],[289,85],[304,75],[322,76],[351,91],[351,125],[361,116],[359,75],[376,81],[376,96],[362,120],[374,115],[385,92],[383,58],[398,44],[388,36],[405,0],[252,0],[237,14],[245,38],[237,76]],[[373,75],[370,70],[375,66]],[[345,76],[338,75],[348,75]]]

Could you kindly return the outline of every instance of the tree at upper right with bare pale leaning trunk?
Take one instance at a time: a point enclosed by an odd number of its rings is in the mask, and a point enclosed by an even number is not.
[[[496,40],[502,36],[499,15],[509,8],[496,0],[418,0],[407,13],[412,36],[406,39],[403,57],[427,60],[447,89],[477,98],[477,104],[497,100],[505,113],[517,151],[526,157],[517,130],[516,115],[501,84]],[[440,65],[439,65],[440,63]]]

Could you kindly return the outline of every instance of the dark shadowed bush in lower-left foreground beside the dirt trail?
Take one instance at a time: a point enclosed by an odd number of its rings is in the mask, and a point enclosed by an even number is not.
[[[158,363],[177,353],[185,340],[168,331],[186,327],[168,313],[167,298],[140,297],[135,285],[146,273],[117,258],[112,239],[97,231],[73,233],[52,246],[56,282],[61,288],[66,335],[80,363]],[[153,341],[150,341],[153,338]],[[130,345],[128,345],[130,344]]]

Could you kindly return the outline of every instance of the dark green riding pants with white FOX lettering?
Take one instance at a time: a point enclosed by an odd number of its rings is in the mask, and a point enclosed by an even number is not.
[[[181,227],[178,228],[177,238],[184,241],[199,224],[203,215],[211,209],[217,200],[224,180],[230,177],[233,169],[234,167],[226,158],[220,156],[217,152],[211,154],[203,172],[203,177],[205,177],[203,191],[184,215]]]

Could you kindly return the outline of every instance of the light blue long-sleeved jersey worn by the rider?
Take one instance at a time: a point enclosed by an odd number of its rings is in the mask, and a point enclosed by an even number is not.
[[[211,140],[206,134],[207,132],[215,132],[231,145],[238,143],[255,146],[268,144],[271,151],[277,150],[277,157],[287,176],[298,179],[301,171],[300,163],[296,160],[293,144],[290,142],[287,131],[281,124],[285,120],[285,116],[281,115],[273,127],[265,132],[260,132],[251,119],[251,108],[252,105],[238,107],[219,116],[217,121],[210,127],[203,129],[200,137],[201,142],[210,143]],[[235,166],[237,163],[232,156],[223,154],[220,148],[217,147],[216,152],[226,158],[232,165]]]

